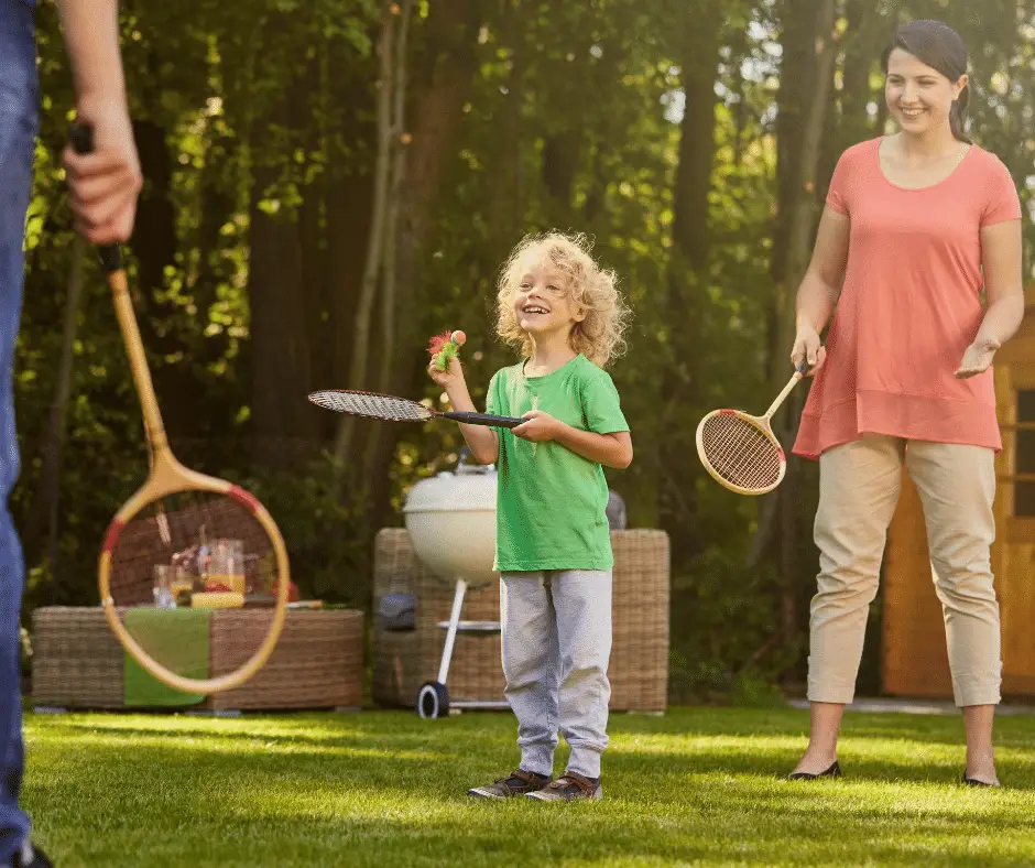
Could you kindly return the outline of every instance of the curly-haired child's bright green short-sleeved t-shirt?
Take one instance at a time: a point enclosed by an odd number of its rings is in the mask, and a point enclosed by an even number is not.
[[[607,371],[585,356],[545,377],[525,377],[524,364],[498,371],[486,412],[522,416],[530,410],[571,427],[629,431]],[[603,468],[549,441],[530,443],[509,428],[500,436],[495,569],[610,569],[608,484]]]

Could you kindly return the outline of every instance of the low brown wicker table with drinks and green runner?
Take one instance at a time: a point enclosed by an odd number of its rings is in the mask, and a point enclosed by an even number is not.
[[[254,648],[269,609],[215,609],[210,674],[236,669]],[[126,652],[101,609],[47,607],[33,614],[32,699],[36,707],[127,708]],[[237,640],[237,641],[236,641]],[[358,708],[362,701],[363,614],[292,609],[266,664],[240,687],[185,706],[207,712]]]

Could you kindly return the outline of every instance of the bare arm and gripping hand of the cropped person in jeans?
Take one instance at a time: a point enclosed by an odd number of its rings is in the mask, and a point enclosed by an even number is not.
[[[126,241],[142,178],[126,98],[117,0],[57,0],[76,93],[76,122],[94,152],[63,154],[76,229],[97,245]]]

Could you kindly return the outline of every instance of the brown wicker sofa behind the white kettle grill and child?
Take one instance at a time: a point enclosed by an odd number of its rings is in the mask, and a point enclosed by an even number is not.
[[[611,532],[614,550],[613,642],[608,677],[612,710],[662,712],[668,688],[668,536],[656,530]],[[413,555],[406,531],[386,528],[374,549],[373,610],[389,595],[412,595],[413,629],[386,629],[374,620],[374,702],[414,707],[417,691],[434,681],[442,660],[454,587]],[[494,582],[467,592],[464,620],[499,620],[500,589]],[[503,699],[499,633],[458,633],[447,680],[450,696]]]

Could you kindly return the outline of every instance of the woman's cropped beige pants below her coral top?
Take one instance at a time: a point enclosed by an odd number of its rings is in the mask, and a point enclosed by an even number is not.
[[[808,698],[848,704],[854,696],[903,462],[924,504],[956,704],[998,704],[1002,661],[990,561],[994,453],[924,441],[906,445],[874,434],[819,458],[819,588],[811,605]]]

